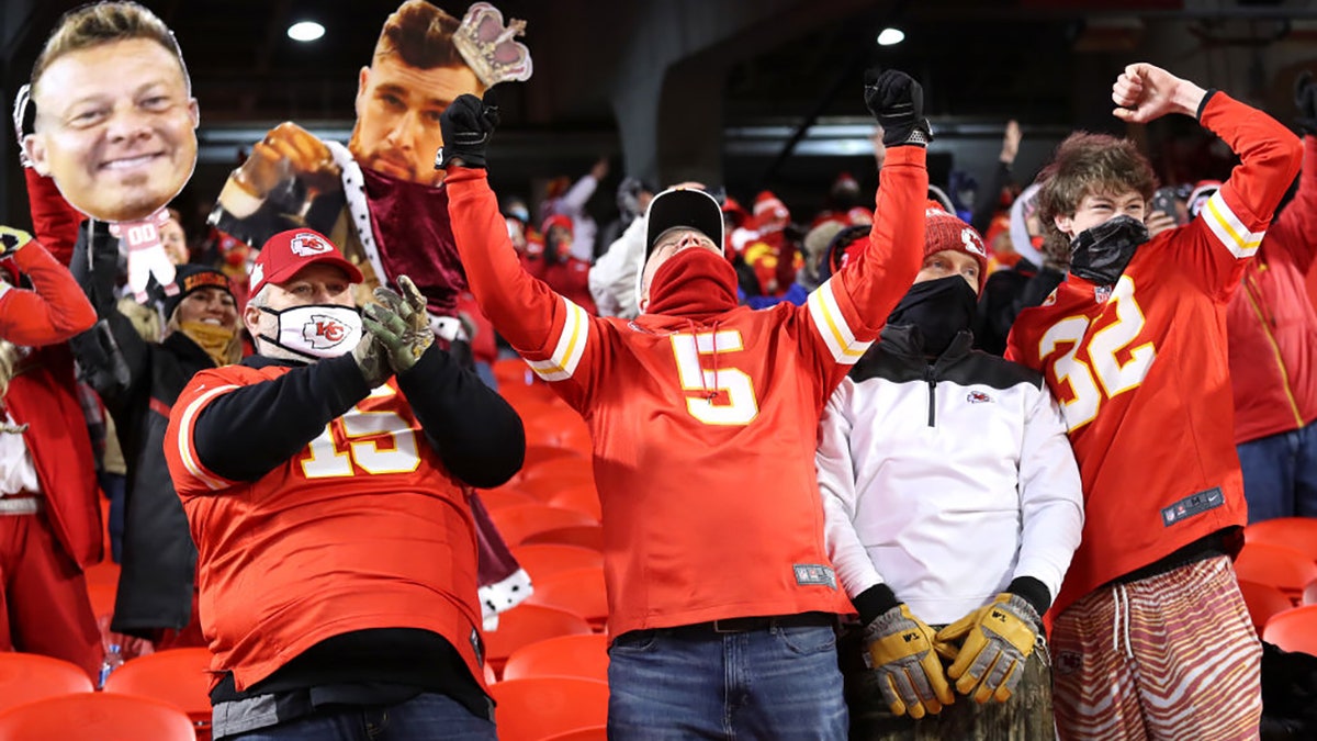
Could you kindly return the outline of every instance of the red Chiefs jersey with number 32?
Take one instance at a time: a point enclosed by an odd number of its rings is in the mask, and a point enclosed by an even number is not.
[[[1042,369],[1084,483],[1084,538],[1054,609],[1246,522],[1225,311],[1299,170],[1283,125],[1223,94],[1202,124],[1241,156],[1200,216],[1138,248],[1115,286],[1069,276],[1011,328]]]

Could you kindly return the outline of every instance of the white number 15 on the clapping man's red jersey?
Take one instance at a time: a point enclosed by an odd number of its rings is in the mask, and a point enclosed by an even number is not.
[[[366,398],[385,398],[396,393],[383,385]],[[302,473],[307,479],[352,476],[353,463],[366,473],[410,473],[420,465],[416,431],[396,413],[365,411],[358,405],[340,419],[342,435],[337,434],[331,422],[307,446],[311,455],[302,460]],[[392,450],[381,447],[385,440],[392,442]]]

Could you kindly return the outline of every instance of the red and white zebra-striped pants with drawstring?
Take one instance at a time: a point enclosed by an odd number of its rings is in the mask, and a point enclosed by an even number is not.
[[[1064,741],[1258,738],[1262,643],[1225,556],[1102,587],[1051,643]]]

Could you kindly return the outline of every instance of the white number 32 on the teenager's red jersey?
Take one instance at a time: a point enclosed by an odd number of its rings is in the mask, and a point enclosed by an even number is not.
[[[1069,349],[1052,365],[1058,384],[1069,381],[1071,398],[1062,401],[1062,411],[1071,432],[1097,417],[1102,398],[1113,398],[1142,384],[1156,359],[1152,343],[1130,348],[1147,323],[1134,298],[1134,281],[1122,276],[1106,302],[1115,309],[1115,320],[1093,332],[1087,341],[1084,334],[1089,319],[1069,316],[1052,324],[1038,343],[1038,357],[1044,364],[1058,345],[1071,343]],[[1087,361],[1077,357],[1084,347],[1088,348]],[[1123,361],[1117,357],[1122,351],[1126,351]]]

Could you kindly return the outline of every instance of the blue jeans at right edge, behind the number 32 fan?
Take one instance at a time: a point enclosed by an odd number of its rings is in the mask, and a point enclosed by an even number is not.
[[[1308,425],[1238,446],[1249,522],[1317,517],[1317,430]]]

